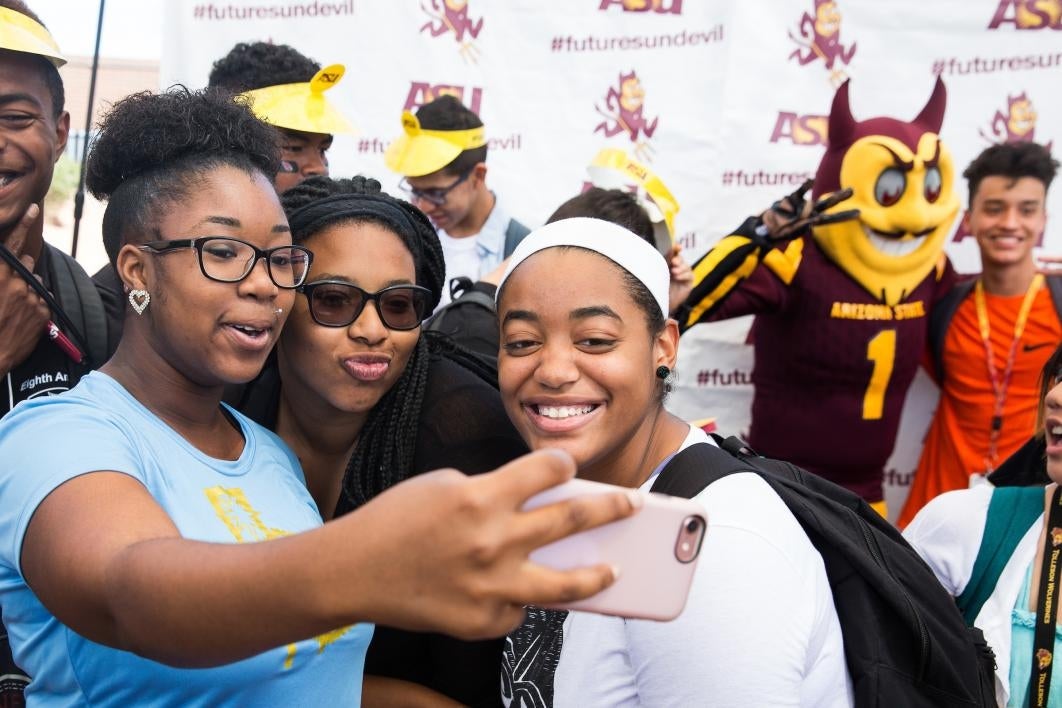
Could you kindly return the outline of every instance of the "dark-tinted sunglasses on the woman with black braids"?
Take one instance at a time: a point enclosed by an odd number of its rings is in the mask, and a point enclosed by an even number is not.
[[[421,286],[391,286],[375,293],[342,280],[318,280],[301,286],[298,292],[310,304],[313,322],[324,327],[347,327],[372,300],[388,329],[416,329],[428,316],[431,291]]]

